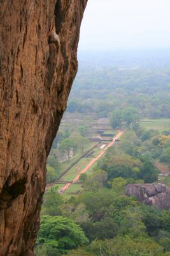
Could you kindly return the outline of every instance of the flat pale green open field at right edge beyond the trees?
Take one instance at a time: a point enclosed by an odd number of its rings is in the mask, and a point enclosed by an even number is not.
[[[161,118],[161,119],[144,118],[141,121],[141,127],[147,130],[154,129],[160,132],[166,131],[170,129],[170,119],[169,118]]]

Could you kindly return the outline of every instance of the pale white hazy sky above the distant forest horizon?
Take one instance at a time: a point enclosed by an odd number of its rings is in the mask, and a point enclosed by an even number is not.
[[[170,0],[89,0],[80,50],[170,47]]]

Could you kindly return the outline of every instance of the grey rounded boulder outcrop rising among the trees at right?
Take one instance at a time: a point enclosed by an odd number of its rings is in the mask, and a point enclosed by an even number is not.
[[[170,209],[170,188],[164,184],[133,184],[127,185],[126,195],[136,196],[140,202],[155,205],[159,209]]]

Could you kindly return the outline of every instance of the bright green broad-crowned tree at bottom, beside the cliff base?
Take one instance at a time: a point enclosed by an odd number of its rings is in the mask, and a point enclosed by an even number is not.
[[[60,253],[88,244],[89,240],[73,220],[62,216],[41,216],[37,245],[45,244]]]

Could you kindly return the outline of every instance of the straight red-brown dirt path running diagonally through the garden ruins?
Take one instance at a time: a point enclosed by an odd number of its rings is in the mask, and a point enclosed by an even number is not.
[[[92,161],[90,161],[90,163],[87,164],[87,166],[85,166],[85,168],[73,179],[72,182],[67,183],[60,189],[60,192],[64,193],[71,186],[71,184],[74,184],[74,182],[78,181],[80,178],[80,175],[82,173],[86,173],[89,170],[89,168],[92,166],[92,164],[96,163],[96,161],[99,160],[103,156],[103,154],[108,150],[108,148],[112,147],[115,144],[115,141],[118,140],[118,138],[120,138],[120,136],[122,136],[123,133],[124,133],[124,131],[122,131],[122,130],[119,131],[118,134],[114,137],[113,141],[111,141],[111,143],[109,143],[108,146],[106,148],[104,148],[104,150],[99,154],[99,156],[92,159]]]

